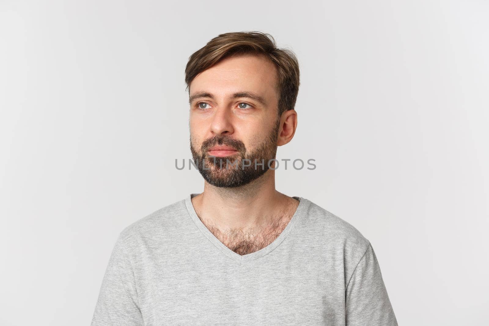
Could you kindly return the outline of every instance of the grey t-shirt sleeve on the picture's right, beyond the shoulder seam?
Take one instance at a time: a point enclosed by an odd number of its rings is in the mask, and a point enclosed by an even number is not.
[[[346,287],[346,325],[398,325],[370,243]]]

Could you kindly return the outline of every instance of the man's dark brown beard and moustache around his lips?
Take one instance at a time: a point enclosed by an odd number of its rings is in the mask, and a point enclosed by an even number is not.
[[[215,187],[235,188],[244,186],[265,174],[269,169],[268,165],[273,164],[270,160],[274,159],[277,153],[278,122],[264,142],[249,153],[246,152],[241,140],[228,136],[216,135],[206,139],[200,147],[200,152],[195,150],[190,139],[190,151],[194,163],[205,181]],[[225,157],[208,155],[209,149],[215,145],[230,146],[238,153]],[[249,166],[244,166],[243,163]]]

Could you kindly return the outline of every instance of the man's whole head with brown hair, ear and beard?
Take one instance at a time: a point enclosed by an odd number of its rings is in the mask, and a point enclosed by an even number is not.
[[[239,187],[274,166],[297,123],[299,65],[291,51],[264,33],[221,34],[192,54],[185,82],[190,149],[208,183]]]

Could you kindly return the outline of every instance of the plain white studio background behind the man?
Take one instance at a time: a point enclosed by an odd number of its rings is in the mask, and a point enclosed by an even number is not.
[[[188,57],[258,30],[301,68],[277,190],[353,224],[401,325],[487,325],[488,1],[0,0],[0,324],[89,325],[118,233],[200,193]]]

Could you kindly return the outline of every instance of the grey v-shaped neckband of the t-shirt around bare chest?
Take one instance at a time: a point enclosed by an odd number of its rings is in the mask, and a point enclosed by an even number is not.
[[[223,254],[225,254],[227,257],[238,261],[240,264],[243,264],[243,262],[246,261],[252,261],[257,258],[263,257],[270,253],[272,250],[278,247],[282,241],[285,240],[285,238],[289,235],[290,231],[292,230],[293,226],[297,221],[304,215],[304,212],[306,211],[306,207],[309,204],[309,200],[303,197],[298,197],[298,196],[293,196],[292,198],[295,198],[299,200],[299,205],[297,206],[297,209],[294,212],[294,215],[292,218],[289,220],[289,223],[285,227],[285,229],[282,231],[282,233],[275,239],[273,240],[270,244],[268,244],[266,247],[246,254],[246,255],[240,255],[228,247],[224,245],[224,243],[221,242],[221,240],[217,239],[214,234],[205,226],[204,223],[200,220],[200,218],[197,216],[197,213],[195,211],[194,205],[192,204],[192,198],[197,196],[199,194],[190,194],[185,198],[185,206],[187,207],[188,214],[194,221],[194,223],[197,225],[199,230],[203,233],[203,235],[209,239],[217,248],[219,248]]]

